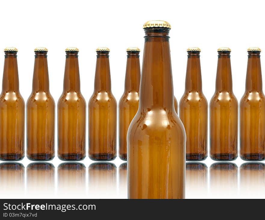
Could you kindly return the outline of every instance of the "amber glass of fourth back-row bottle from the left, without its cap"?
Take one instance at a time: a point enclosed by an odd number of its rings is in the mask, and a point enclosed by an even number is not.
[[[108,51],[97,51],[94,93],[89,99],[89,158],[110,161],[117,156],[117,102],[111,92]]]

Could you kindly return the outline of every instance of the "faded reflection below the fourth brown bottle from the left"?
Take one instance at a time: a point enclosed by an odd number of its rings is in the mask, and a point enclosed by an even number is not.
[[[117,168],[113,163],[97,162],[89,165],[89,197],[116,197]]]

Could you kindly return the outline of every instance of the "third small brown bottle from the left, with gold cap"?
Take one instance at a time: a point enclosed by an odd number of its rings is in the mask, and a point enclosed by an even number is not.
[[[64,89],[58,100],[58,157],[78,161],[86,156],[86,101],[80,90],[78,52],[65,49]]]

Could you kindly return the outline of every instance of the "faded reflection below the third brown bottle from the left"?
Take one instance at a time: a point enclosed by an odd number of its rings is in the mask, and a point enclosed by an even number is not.
[[[58,166],[58,194],[64,198],[86,196],[86,167],[82,163],[66,162]]]

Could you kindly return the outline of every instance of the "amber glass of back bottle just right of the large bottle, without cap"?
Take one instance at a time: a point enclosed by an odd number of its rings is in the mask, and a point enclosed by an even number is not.
[[[186,160],[207,158],[208,103],[202,93],[199,51],[188,51],[185,92],[179,102],[179,118],[186,131]]]

